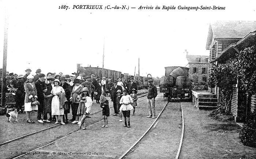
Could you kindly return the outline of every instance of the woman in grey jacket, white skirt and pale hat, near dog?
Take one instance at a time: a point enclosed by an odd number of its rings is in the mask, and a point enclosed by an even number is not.
[[[32,110],[38,110],[37,106],[31,106],[31,103],[37,100],[37,89],[35,88],[35,83],[33,82],[34,77],[32,75],[27,76],[27,81],[24,84],[25,88],[25,108],[26,117],[28,123],[35,123],[31,120]]]

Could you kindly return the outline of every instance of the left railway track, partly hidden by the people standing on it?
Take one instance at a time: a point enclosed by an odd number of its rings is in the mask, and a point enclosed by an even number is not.
[[[147,94],[146,94],[146,95],[147,95]],[[141,96],[139,96],[138,98],[142,98],[142,97],[144,97],[144,96],[146,96],[146,95],[141,95]],[[143,100],[140,101],[140,102],[143,102],[144,100],[145,100],[145,99],[143,99]],[[140,102],[138,102],[138,103],[140,103]],[[112,107],[113,107],[113,106],[112,106]],[[110,107],[110,108],[112,108],[112,107]],[[101,112],[101,111],[102,111],[102,110],[99,110],[99,111],[93,112],[92,114],[98,114],[98,113]],[[111,116],[112,116],[112,115],[111,115]],[[92,124],[90,124],[90,125],[87,126],[86,128],[89,128],[89,127],[91,127],[91,126],[93,126],[93,125],[95,125],[95,124],[101,122],[102,120],[103,120],[103,119],[98,120],[98,121],[96,121],[96,122],[93,122]],[[48,128],[43,129],[43,130],[39,130],[39,131],[32,132],[32,133],[27,134],[27,135],[20,136],[20,137],[18,137],[18,138],[12,139],[12,140],[8,140],[8,141],[6,141],[6,142],[0,143],[0,147],[5,146],[5,145],[7,145],[7,144],[12,144],[12,143],[14,143],[15,141],[26,140],[27,138],[29,138],[30,136],[33,136],[33,135],[35,135],[35,134],[39,134],[39,133],[43,133],[43,132],[45,132],[45,131],[53,130],[54,128],[57,129],[59,126],[60,126],[60,125],[58,124],[58,125],[56,125],[56,126],[48,127]],[[60,128],[60,127],[59,127],[59,128]],[[67,134],[60,135],[60,136],[56,136],[56,137],[55,137],[51,142],[49,142],[48,144],[45,144],[45,145],[40,146],[40,147],[38,147],[38,148],[34,148],[33,150],[30,150],[30,151],[28,151],[28,152],[26,152],[26,153],[24,153],[24,154],[15,156],[14,159],[15,159],[15,158],[20,158],[20,157],[22,157],[22,156],[24,156],[24,155],[26,155],[26,154],[28,154],[28,153],[31,153],[31,152],[34,152],[34,151],[36,151],[36,150],[39,150],[39,149],[41,149],[41,148],[43,148],[43,147],[49,146],[49,145],[51,145],[51,144],[53,144],[53,143],[55,143],[55,142],[57,142],[57,141],[59,141],[59,140],[61,140],[61,139],[64,139],[64,138],[66,138],[66,137],[68,137],[68,136],[70,136],[70,135],[72,135],[72,134],[75,134],[76,132],[79,132],[79,131],[80,131],[79,129],[76,129],[76,130],[74,130],[74,131],[72,131],[72,132],[69,132],[69,133],[67,133]]]

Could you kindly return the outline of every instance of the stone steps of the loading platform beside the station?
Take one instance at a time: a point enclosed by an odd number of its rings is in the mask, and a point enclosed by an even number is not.
[[[212,110],[217,108],[218,99],[215,94],[192,91],[192,96],[192,103],[194,103],[199,110]]]

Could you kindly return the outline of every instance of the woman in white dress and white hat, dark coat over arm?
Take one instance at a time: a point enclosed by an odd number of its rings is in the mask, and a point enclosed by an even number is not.
[[[64,102],[67,101],[65,98],[65,91],[64,89],[60,86],[60,80],[55,79],[53,81],[54,87],[52,88],[51,93],[53,94],[52,98],[52,115],[55,115],[56,118],[56,123],[54,124],[59,124],[58,122],[58,116],[60,116],[61,124],[65,125],[63,122],[63,116],[64,115]]]

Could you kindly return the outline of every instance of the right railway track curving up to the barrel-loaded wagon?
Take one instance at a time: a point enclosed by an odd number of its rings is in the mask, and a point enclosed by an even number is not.
[[[150,130],[152,130],[152,128],[155,128],[157,123],[159,122],[159,117],[162,115],[163,111],[165,110],[167,104],[169,102],[167,102],[165,104],[165,106],[163,107],[161,113],[157,116],[157,118],[155,119],[155,121],[151,124],[151,126],[144,132],[144,134],[123,154],[121,155],[118,159],[125,159],[125,158],[129,158],[129,154],[131,154],[135,149],[136,146],[142,142],[142,139],[145,138],[145,136],[148,134],[148,132]],[[184,115],[183,115],[183,108],[182,108],[182,103],[181,103],[181,115],[182,115],[182,132],[181,132],[181,138],[180,138],[180,143],[177,147],[177,154],[175,156],[175,159],[179,158],[180,155],[180,151],[181,151],[181,146],[182,146],[182,141],[183,141],[183,136],[184,136]],[[154,126],[154,127],[153,127]],[[132,158],[132,157],[131,157]]]

